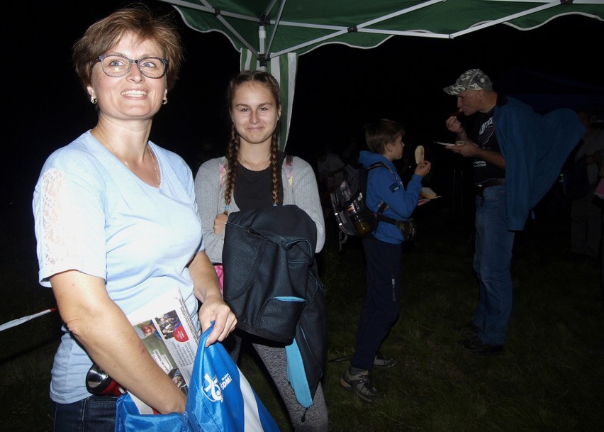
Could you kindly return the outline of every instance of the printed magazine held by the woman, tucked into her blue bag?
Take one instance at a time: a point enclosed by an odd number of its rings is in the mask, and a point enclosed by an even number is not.
[[[171,289],[128,314],[128,320],[157,365],[189,394],[199,336],[179,289]],[[140,414],[157,414],[134,394],[130,397]]]

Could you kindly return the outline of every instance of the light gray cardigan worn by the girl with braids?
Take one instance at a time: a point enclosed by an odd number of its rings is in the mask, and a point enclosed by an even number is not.
[[[214,219],[225,208],[225,184],[220,184],[221,157],[203,162],[195,176],[195,195],[197,209],[203,227],[203,238],[206,243],[206,253],[211,262],[223,261],[224,234],[214,233]],[[284,164],[285,165],[285,164]],[[281,170],[281,181],[285,185],[283,204],[296,204],[306,211],[317,226],[317,248],[315,253],[323,249],[325,243],[325,219],[319,199],[317,179],[313,167],[300,157],[293,157],[292,184],[289,187],[285,169]],[[228,212],[239,211],[235,199],[231,198]]]

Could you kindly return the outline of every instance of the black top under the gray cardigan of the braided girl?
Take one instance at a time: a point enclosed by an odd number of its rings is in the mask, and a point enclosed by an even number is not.
[[[279,152],[279,204],[283,203],[283,187],[281,186],[281,165],[285,154]],[[251,209],[264,209],[273,205],[273,183],[271,167],[262,171],[248,170],[243,165],[237,165],[237,178],[235,179],[233,198],[240,211]]]

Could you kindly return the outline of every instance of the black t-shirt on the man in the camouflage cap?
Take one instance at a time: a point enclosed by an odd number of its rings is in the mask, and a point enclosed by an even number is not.
[[[497,105],[507,103],[508,100],[505,96],[497,96]],[[499,143],[497,142],[497,136],[495,134],[495,126],[493,125],[493,113],[495,107],[488,113],[476,113],[476,118],[472,124],[468,136],[474,143],[478,144],[485,150],[493,150],[500,152]],[[480,183],[486,179],[503,179],[505,178],[505,170],[492,165],[485,160],[474,158],[472,164],[472,177],[474,183]]]

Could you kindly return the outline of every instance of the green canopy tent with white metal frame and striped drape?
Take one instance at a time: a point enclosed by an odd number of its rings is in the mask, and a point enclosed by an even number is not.
[[[161,0],[187,26],[218,31],[240,52],[240,70],[264,69],[281,85],[280,147],[291,121],[298,56],[340,43],[375,48],[395,35],[453,39],[505,24],[526,31],[559,16],[604,21],[604,0]]]

